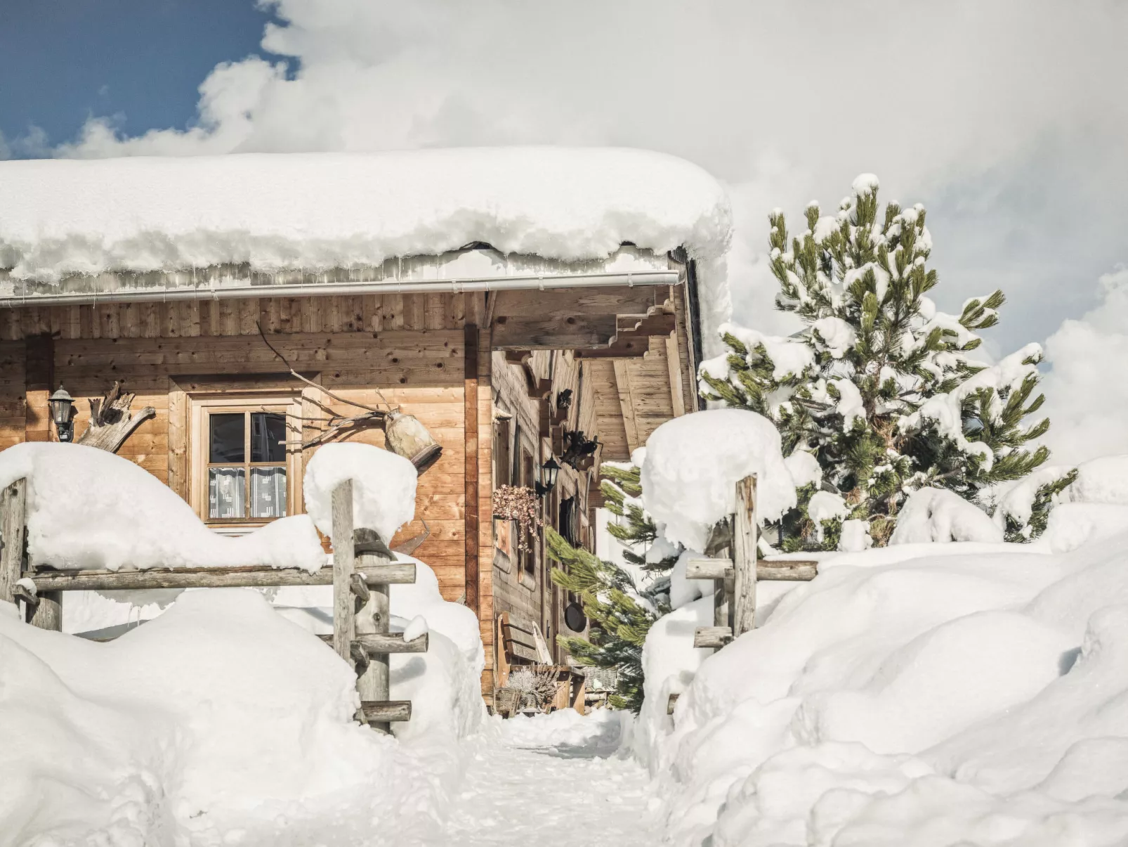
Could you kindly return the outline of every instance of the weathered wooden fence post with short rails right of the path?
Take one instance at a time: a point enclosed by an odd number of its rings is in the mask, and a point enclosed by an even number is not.
[[[818,562],[797,559],[766,561],[757,551],[759,521],[756,510],[756,474],[737,482],[737,512],[713,530],[706,552],[726,557],[690,559],[686,579],[713,580],[713,626],[697,627],[694,647],[721,649],[756,623],[756,583],[807,582],[818,575]],[[673,714],[678,695],[670,695],[667,714]]]

